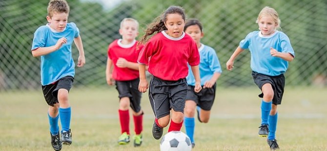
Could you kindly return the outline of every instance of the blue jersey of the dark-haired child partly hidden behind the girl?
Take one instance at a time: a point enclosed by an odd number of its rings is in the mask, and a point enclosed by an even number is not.
[[[214,73],[222,73],[222,68],[219,59],[213,48],[201,44],[199,48],[200,53],[200,77],[201,85],[203,86],[206,81],[209,81]],[[192,74],[191,66],[188,65],[188,75],[186,76],[187,84],[195,86],[195,78]]]

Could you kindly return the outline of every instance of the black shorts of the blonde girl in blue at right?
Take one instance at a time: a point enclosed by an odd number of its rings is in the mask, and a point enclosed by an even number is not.
[[[263,74],[259,74],[255,71],[252,71],[252,77],[254,83],[259,87],[261,90],[262,86],[266,83],[270,83],[272,89],[274,90],[274,97],[272,99],[272,104],[278,105],[282,103],[282,98],[284,94],[285,88],[285,76],[284,74],[279,76],[266,76]],[[264,94],[259,94],[259,97],[263,98]]]

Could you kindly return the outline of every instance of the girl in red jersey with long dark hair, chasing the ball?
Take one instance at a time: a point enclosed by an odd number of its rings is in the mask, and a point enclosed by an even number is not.
[[[150,38],[141,51],[138,62],[140,69],[140,92],[146,92],[145,64],[152,79],[149,99],[155,114],[152,134],[155,139],[163,135],[163,128],[171,121],[168,132],[180,131],[183,125],[185,98],[187,93],[187,62],[195,76],[195,92],[200,92],[200,56],[195,41],[183,32],[185,13],[179,6],[170,6],[145,31],[141,43]],[[151,57],[151,58],[150,58]],[[172,110],[171,110],[172,109]]]

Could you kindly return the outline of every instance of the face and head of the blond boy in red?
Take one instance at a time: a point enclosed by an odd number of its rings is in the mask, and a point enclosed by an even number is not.
[[[123,40],[134,40],[139,35],[137,23],[132,20],[124,21],[122,28],[119,29],[119,34],[122,35]]]

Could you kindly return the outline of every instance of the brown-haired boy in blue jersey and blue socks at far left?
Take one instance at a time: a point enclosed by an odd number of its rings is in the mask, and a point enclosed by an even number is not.
[[[66,0],[50,0],[47,9],[46,19],[49,23],[35,31],[32,55],[41,56],[41,84],[45,101],[49,105],[51,145],[54,150],[60,151],[61,142],[63,145],[72,143],[68,93],[75,75],[75,63],[71,52],[73,41],[80,53],[78,67],[85,64],[85,57],[79,29],[75,23],[67,23],[69,6]]]

